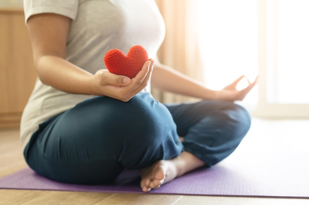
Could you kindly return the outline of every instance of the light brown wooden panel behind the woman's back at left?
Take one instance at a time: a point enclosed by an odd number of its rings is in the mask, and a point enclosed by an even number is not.
[[[19,126],[36,76],[23,10],[0,10],[0,128]]]

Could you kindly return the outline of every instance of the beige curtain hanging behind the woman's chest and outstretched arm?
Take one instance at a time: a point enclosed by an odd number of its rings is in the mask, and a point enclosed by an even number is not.
[[[194,4],[190,0],[156,0],[164,18],[166,35],[158,52],[161,63],[203,81]],[[154,97],[163,103],[196,101],[198,99],[153,89]]]

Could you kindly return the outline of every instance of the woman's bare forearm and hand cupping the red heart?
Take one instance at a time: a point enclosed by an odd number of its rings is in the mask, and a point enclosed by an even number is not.
[[[130,79],[107,69],[91,74],[52,55],[41,56],[35,62],[39,78],[46,85],[69,93],[109,96],[124,102],[147,86],[154,64],[152,59],[146,61],[141,71]]]

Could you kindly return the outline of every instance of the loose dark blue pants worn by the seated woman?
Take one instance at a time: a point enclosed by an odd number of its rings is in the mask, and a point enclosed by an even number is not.
[[[163,105],[142,92],[128,102],[94,97],[40,124],[24,156],[50,179],[102,184],[183,150],[212,166],[232,153],[250,123],[243,107],[227,101]]]

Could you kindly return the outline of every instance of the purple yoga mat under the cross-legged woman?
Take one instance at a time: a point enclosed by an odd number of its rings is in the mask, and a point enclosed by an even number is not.
[[[235,152],[224,161],[199,169],[151,190],[151,194],[309,198],[308,153]],[[116,183],[59,183],[29,168],[0,178],[3,189],[142,193],[136,171],[124,171]]]

